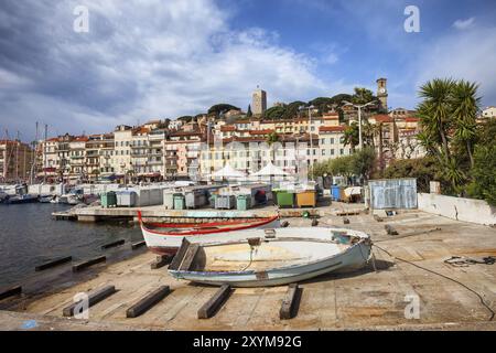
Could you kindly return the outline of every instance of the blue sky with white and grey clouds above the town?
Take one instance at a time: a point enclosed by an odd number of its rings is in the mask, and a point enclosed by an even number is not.
[[[88,31],[74,31],[88,9]],[[419,32],[407,32],[407,6]],[[260,86],[291,103],[376,92],[414,108],[434,77],[479,84],[496,105],[493,0],[2,0],[0,139],[98,133],[117,125],[247,109]],[[77,22],[79,23],[79,22]],[[42,132],[40,132],[40,136]]]

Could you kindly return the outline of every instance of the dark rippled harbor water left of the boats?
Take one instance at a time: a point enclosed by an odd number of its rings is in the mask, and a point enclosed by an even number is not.
[[[117,239],[139,242],[139,227],[55,221],[61,204],[0,205],[0,288],[21,284],[34,268],[55,258],[73,261],[105,255],[101,245]]]

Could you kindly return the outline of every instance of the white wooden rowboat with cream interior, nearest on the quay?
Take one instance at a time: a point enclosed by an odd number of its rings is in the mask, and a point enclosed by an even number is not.
[[[295,227],[246,232],[229,240],[184,239],[169,272],[213,286],[281,286],[359,269],[369,260],[370,250],[370,237],[356,231]]]

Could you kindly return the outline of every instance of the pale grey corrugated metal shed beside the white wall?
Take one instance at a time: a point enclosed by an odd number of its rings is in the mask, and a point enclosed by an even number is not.
[[[417,179],[381,179],[368,182],[370,208],[417,208]]]

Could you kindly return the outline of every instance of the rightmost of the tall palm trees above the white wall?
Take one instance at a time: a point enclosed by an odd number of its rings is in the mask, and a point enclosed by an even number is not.
[[[463,79],[453,87],[455,137],[465,145],[472,168],[474,168],[473,143],[477,137],[475,119],[481,103],[481,97],[477,96],[477,84]]]

